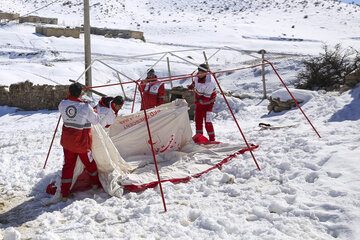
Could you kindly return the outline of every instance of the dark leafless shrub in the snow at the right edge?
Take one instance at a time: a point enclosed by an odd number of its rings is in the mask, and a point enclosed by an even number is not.
[[[340,44],[334,49],[323,46],[324,53],[304,60],[305,69],[297,75],[296,88],[326,91],[339,90],[345,76],[360,66],[360,53],[353,48],[343,50]]]

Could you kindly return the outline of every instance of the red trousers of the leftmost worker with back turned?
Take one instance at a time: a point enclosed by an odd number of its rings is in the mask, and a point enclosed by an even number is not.
[[[74,153],[64,148],[65,163],[61,174],[61,194],[63,197],[67,197],[70,194],[70,187],[78,156],[80,157],[81,162],[85,165],[86,171],[90,175],[91,183],[99,185],[97,166],[91,156],[91,151],[85,153]]]

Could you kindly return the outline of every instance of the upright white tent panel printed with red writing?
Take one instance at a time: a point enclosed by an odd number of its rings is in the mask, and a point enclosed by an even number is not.
[[[179,150],[192,140],[187,111],[188,105],[182,99],[146,110],[156,154]],[[110,127],[109,136],[126,161],[132,157],[152,156],[143,111],[117,118]]]

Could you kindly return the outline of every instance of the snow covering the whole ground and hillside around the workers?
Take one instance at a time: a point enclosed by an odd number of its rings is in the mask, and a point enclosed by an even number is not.
[[[50,2],[1,0],[0,10],[24,15]],[[105,59],[134,79],[163,54],[125,56],[211,48],[176,53],[199,64],[204,61],[203,51],[209,57],[216,53],[214,48],[228,46],[253,52],[222,49],[209,60],[214,71],[258,63],[256,51],[265,49],[267,59],[293,87],[303,67],[301,60],[322,52],[324,43],[360,50],[360,7],[354,4],[330,0],[110,0],[90,1],[90,5],[93,26],[144,32],[146,42],[91,36],[92,58]],[[58,17],[61,25],[79,26],[81,12],[82,1],[59,1],[33,15]],[[25,80],[68,84],[69,79],[77,79],[84,70],[83,35],[80,39],[55,38],[34,32],[32,24],[0,25],[0,84]],[[173,75],[196,68],[168,57]],[[159,77],[167,76],[166,60],[155,70]],[[104,65],[96,63],[92,72],[94,85],[118,81]],[[89,190],[75,193],[66,203],[43,206],[42,200],[49,197],[46,186],[61,173],[60,132],[43,169],[59,113],[0,106],[0,239],[360,239],[360,86],[341,95],[294,90],[304,97],[301,107],[319,138],[298,109],[268,114],[268,101],[261,99],[259,68],[218,78],[223,90],[252,97],[228,101],[247,140],[260,146],[254,156],[261,171],[250,153],[245,153],[221,171],[186,184],[165,183],[165,213],[159,188],[122,198]],[[266,80],[268,95],[287,96],[270,67],[266,67]],[[124,87],[132,96],[134,86]],[[99,91],[122,94],[119,86]],[[126,102],[121,113],[130,112],[131,102]],[[220,96],[214,112],[217,140],[243,143]],[[260,122],[296,126],[260,130]]]

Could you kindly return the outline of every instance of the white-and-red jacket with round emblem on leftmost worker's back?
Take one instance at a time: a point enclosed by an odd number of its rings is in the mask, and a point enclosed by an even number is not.
[[[99,122],[99,116],[88,104],[76,97],[68,97],[59,104],[59,111],[63,119],[61,145],[74,152],[84,153],[91,150],[91,124]]]

